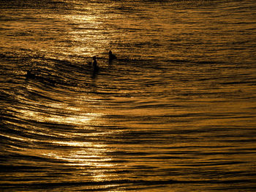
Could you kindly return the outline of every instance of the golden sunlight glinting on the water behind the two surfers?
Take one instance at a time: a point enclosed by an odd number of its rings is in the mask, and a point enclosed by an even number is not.
[[[109,33],[102,33],[105,30],[104,18],[102,12],[108,12],[108,7],[98,7],[95,9],[94,4],[88,4],[86,9],[94,10],[95,15],[89,15],[85,12],[75,12],[72,15],[64,15],[63,19],[70,23],[70,28],[67,29],[69,34],[68,41],[75,42],[75,45],[70,44],[67,49],[67,54],[73,53],[91,57],[93,55],[104,55],[110,47]],[[109,40],[108,40],[109,39]]]

